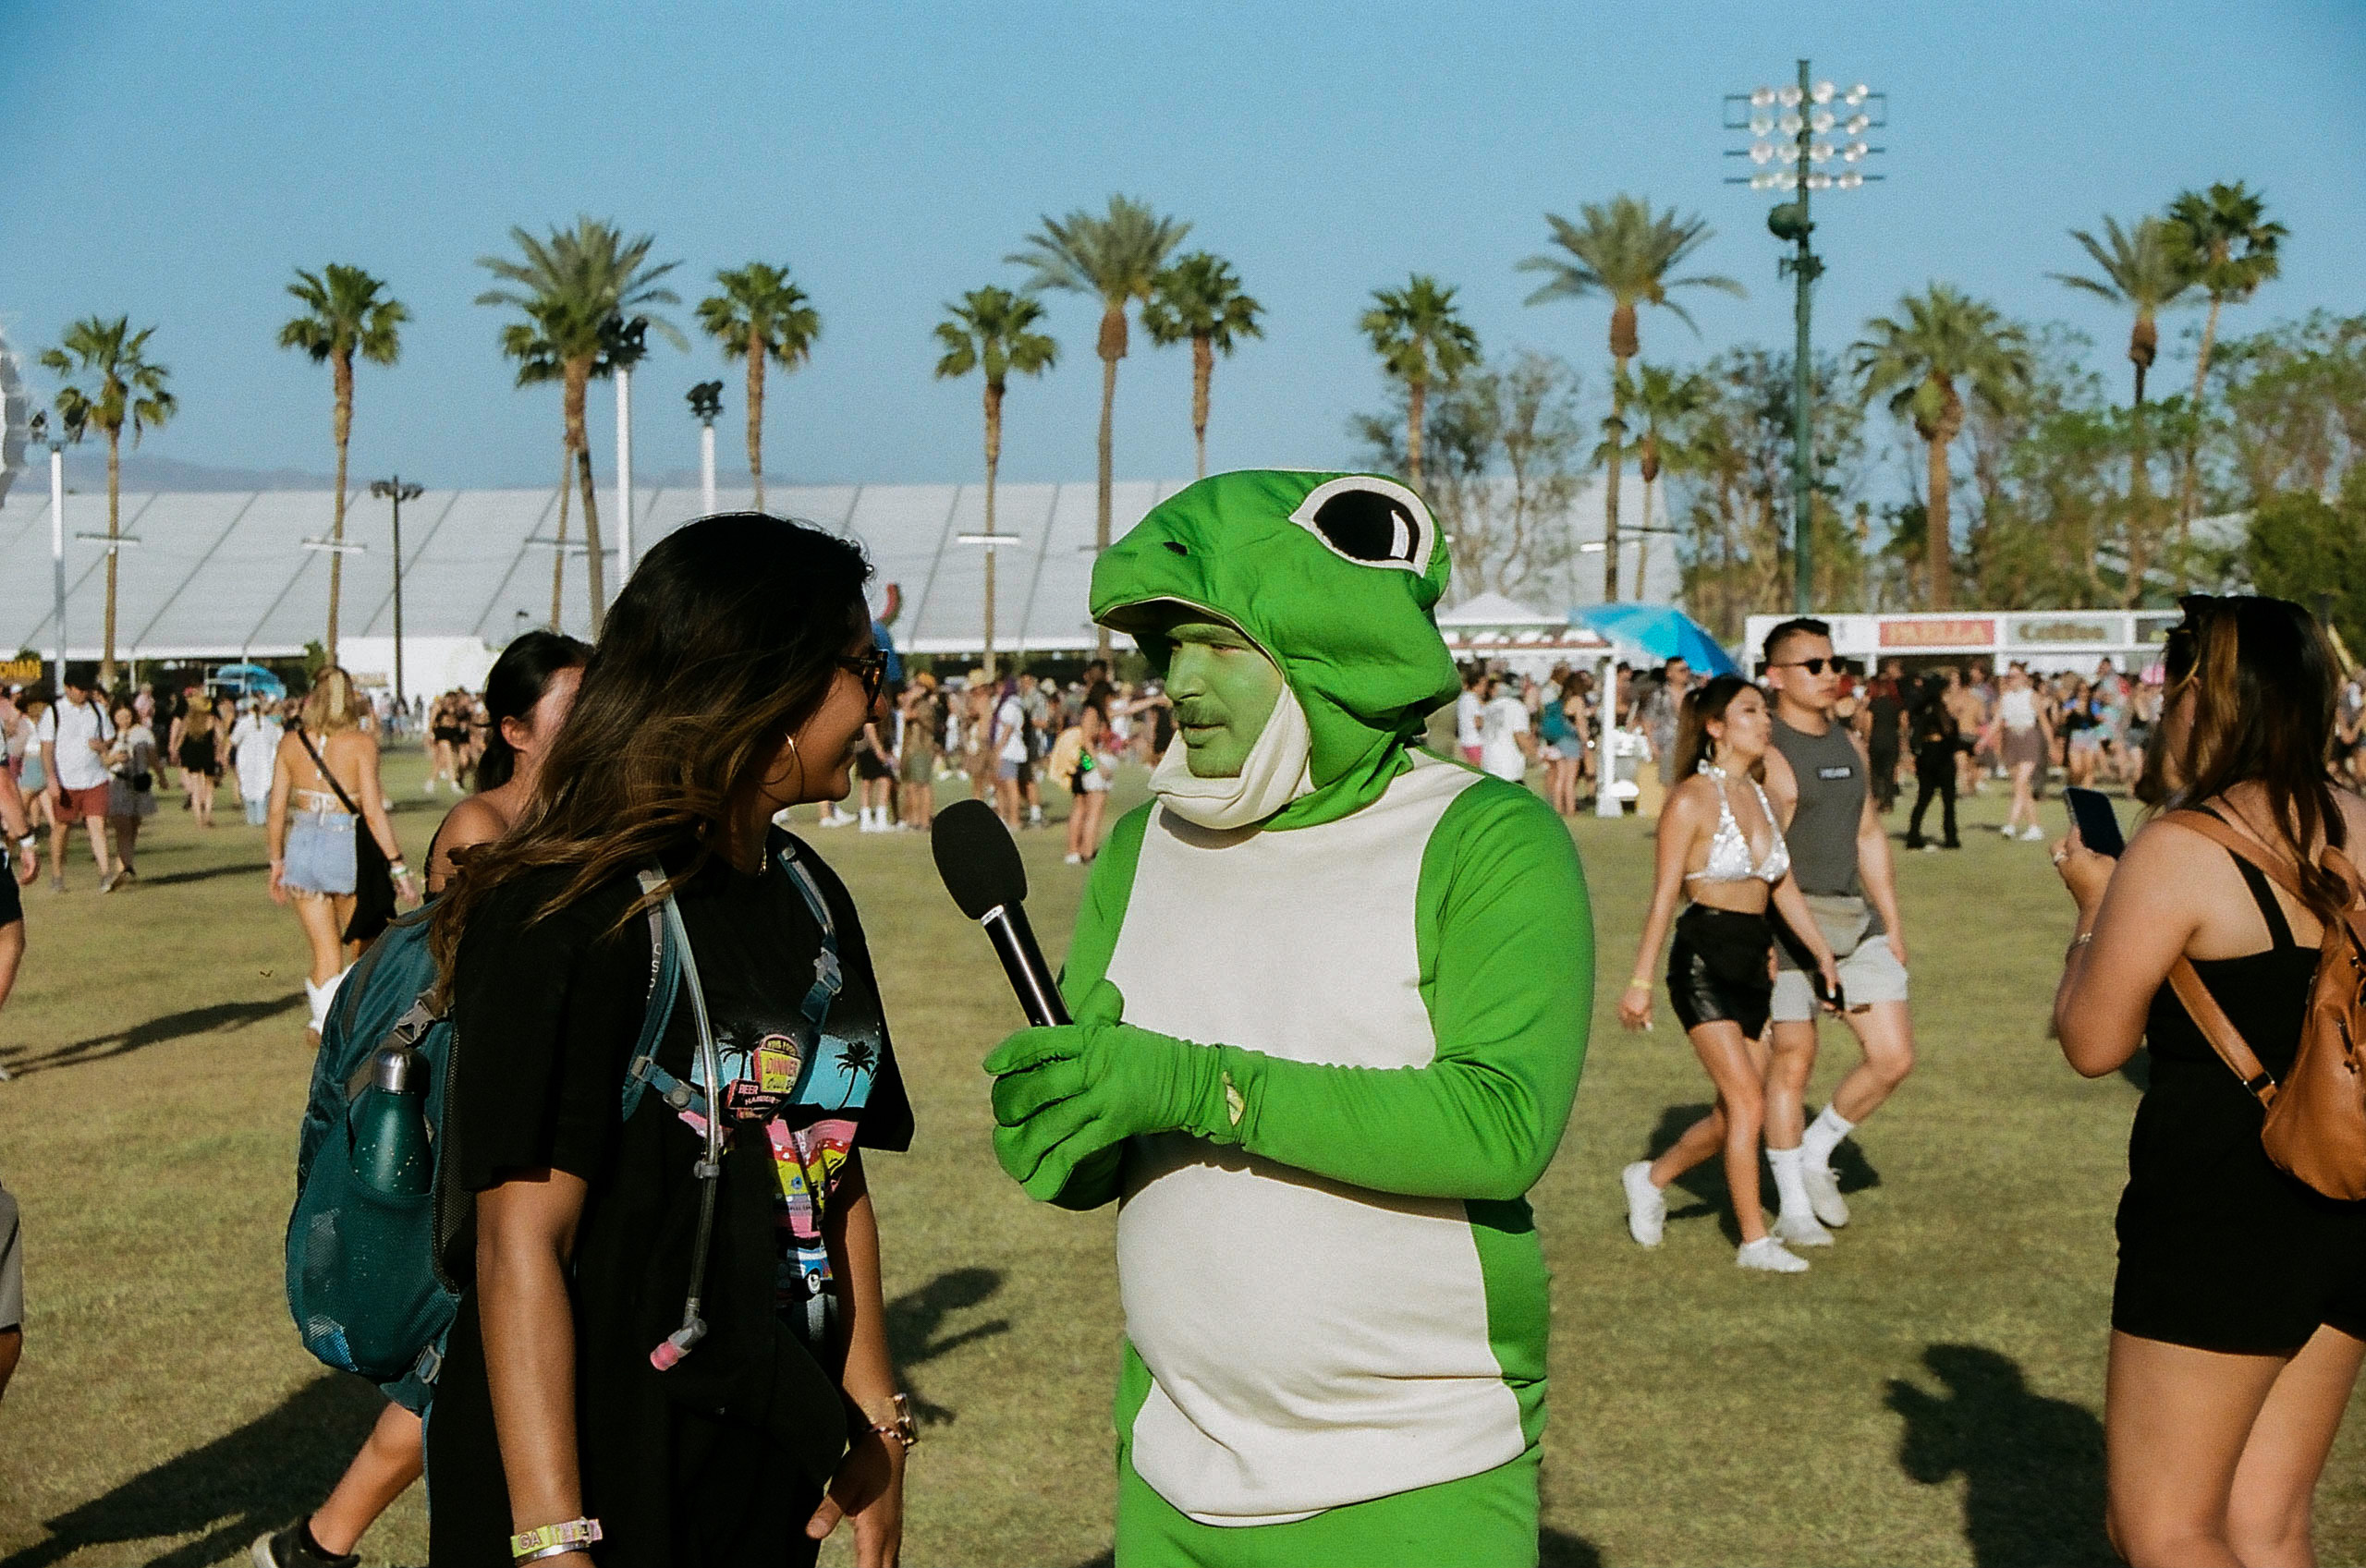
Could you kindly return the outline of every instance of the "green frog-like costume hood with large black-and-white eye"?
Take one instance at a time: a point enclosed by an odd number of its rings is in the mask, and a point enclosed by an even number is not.
[[[1460,691],[1431,615],[1446,539],[1429,506],[1368,473],[1245,468],[1159,501],[1093,563],[1093,620],[1133,634],[1155,605],[1240,627],[1306,712],[1311,795],[1268,828],[1372,804],[1410,766],[1408,743]],[[1143,639],[1164,672],[1166,648]]]

